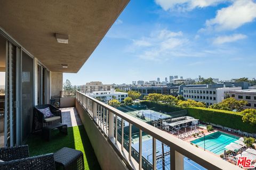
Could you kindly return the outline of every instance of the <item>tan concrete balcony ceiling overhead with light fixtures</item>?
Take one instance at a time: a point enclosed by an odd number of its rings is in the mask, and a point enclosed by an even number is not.
[[[129,0],[0,1],[0,27],[46,67],[76,73]],[[55,33],[69,35],[57,43]],[[62,68],[61,64],[68,64]]]

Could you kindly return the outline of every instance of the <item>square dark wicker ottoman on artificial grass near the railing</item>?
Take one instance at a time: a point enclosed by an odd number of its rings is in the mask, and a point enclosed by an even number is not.
[[[54,153],[55,164],[66,170],[84,169],[83,152],[71,148],[62,148]]]

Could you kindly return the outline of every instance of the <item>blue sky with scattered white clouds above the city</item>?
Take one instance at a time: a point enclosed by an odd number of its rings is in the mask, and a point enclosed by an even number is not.
[[[131,0],[81,70],[63,81],[254,78],[255,19],[252,0]]]

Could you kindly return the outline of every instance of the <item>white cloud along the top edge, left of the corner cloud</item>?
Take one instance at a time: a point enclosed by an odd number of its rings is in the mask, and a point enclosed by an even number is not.
[[[165,11],[174,9],[190,11],[196,7],[203,8],[227,1],[228,0],[155,0],[156,4],[160,5]]]

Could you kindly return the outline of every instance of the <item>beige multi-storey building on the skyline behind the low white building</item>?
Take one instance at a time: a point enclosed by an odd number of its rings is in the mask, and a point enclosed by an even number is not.
[[[114,89],[115,86],[113,84],[102,84],[101,81],[92,81],[86,83],[85,85],[79,86],[81,92],[91,93],[93,91],[109,91],[110,89]]]

